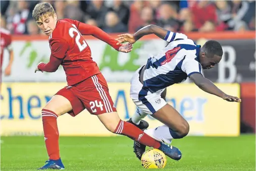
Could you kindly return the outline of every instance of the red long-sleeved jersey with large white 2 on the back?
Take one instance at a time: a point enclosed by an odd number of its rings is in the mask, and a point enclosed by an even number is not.
[[[91,58],[90,47],[82,35],[93,35],[116,50],[121,46],[116,45],[117,41],[98,27],[71,19],[59,20],[49,36],[50,61],[47,64],[39,64],[38,69],[55,72],[62,65],[69,86],[99,74],[99,68]]]

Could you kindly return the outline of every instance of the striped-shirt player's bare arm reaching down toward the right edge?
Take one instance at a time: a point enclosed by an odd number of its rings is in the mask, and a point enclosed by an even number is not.
[[[208,92],[210,94],[214,94],[216,96],[219,96],[227,101],[235,101],[235,102],[241,102],[241,99],[238,97],[233,97],[230,95],[225,94],[223,91],[221,91],[214,83],[212,83],[209,79],[204,78],[199,73],[194,73],[189,76],[189,78],[203,91]]]

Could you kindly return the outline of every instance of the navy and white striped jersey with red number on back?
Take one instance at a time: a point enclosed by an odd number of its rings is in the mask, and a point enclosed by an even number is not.
[[[147,93],[185,81],[193,73],[201,73],[200,45],[196,45],[185,34],[171,31],[168,31],[165,40],[169,44],[147,61],[143,76],[143,89]]]

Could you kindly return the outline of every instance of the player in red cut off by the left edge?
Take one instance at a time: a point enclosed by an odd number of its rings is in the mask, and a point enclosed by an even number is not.
[[[4,50],[7,49],[9,51],[9,64],[5,69],[5,76],[10,76],[11,75],[11,69],[12,69],[12,64],[13,64],[13,50],[12,50],[12,36],[10,31],[6,29],[6,21],[4,19],[4,16],[1,15],[1,61],[0,61],[0,90],[1,90],[1,82],[2,82],[2,65],[3,65],[3,58],[4,58]]]

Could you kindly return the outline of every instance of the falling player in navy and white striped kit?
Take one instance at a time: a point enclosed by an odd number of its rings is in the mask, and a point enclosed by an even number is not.
[[[225,94],[201,74],[202,69],[211,69],[221,61],[223,50],[219,42],[209,40],[201,47],[185,34],[148,25],[134,34],[119,35],[117,44],[133,44],[148,34],[155,34],[169,43],[156,56],[149,58],[146,65],[140,67],[133,75],[130,97],[138,109],[128,122],[145,130],[148,123],[141,119],[151,115],[165,124],[144,131],[154,139],[170,144],[172,139],[185,137],[189,132],[189,125],[180,113],[166,102],[165,95],[168,86],[181,83],[188,77],[203,91],[227,101],[241,102],[240,98]],[[133,147],[140,159],[145,146],[134,141]]]

